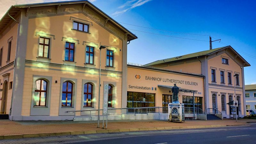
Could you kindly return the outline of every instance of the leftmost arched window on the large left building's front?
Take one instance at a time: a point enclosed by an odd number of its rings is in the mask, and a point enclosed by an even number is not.
[[[39,79],[36,81],[34,106],[45,106],[47,82]]]

